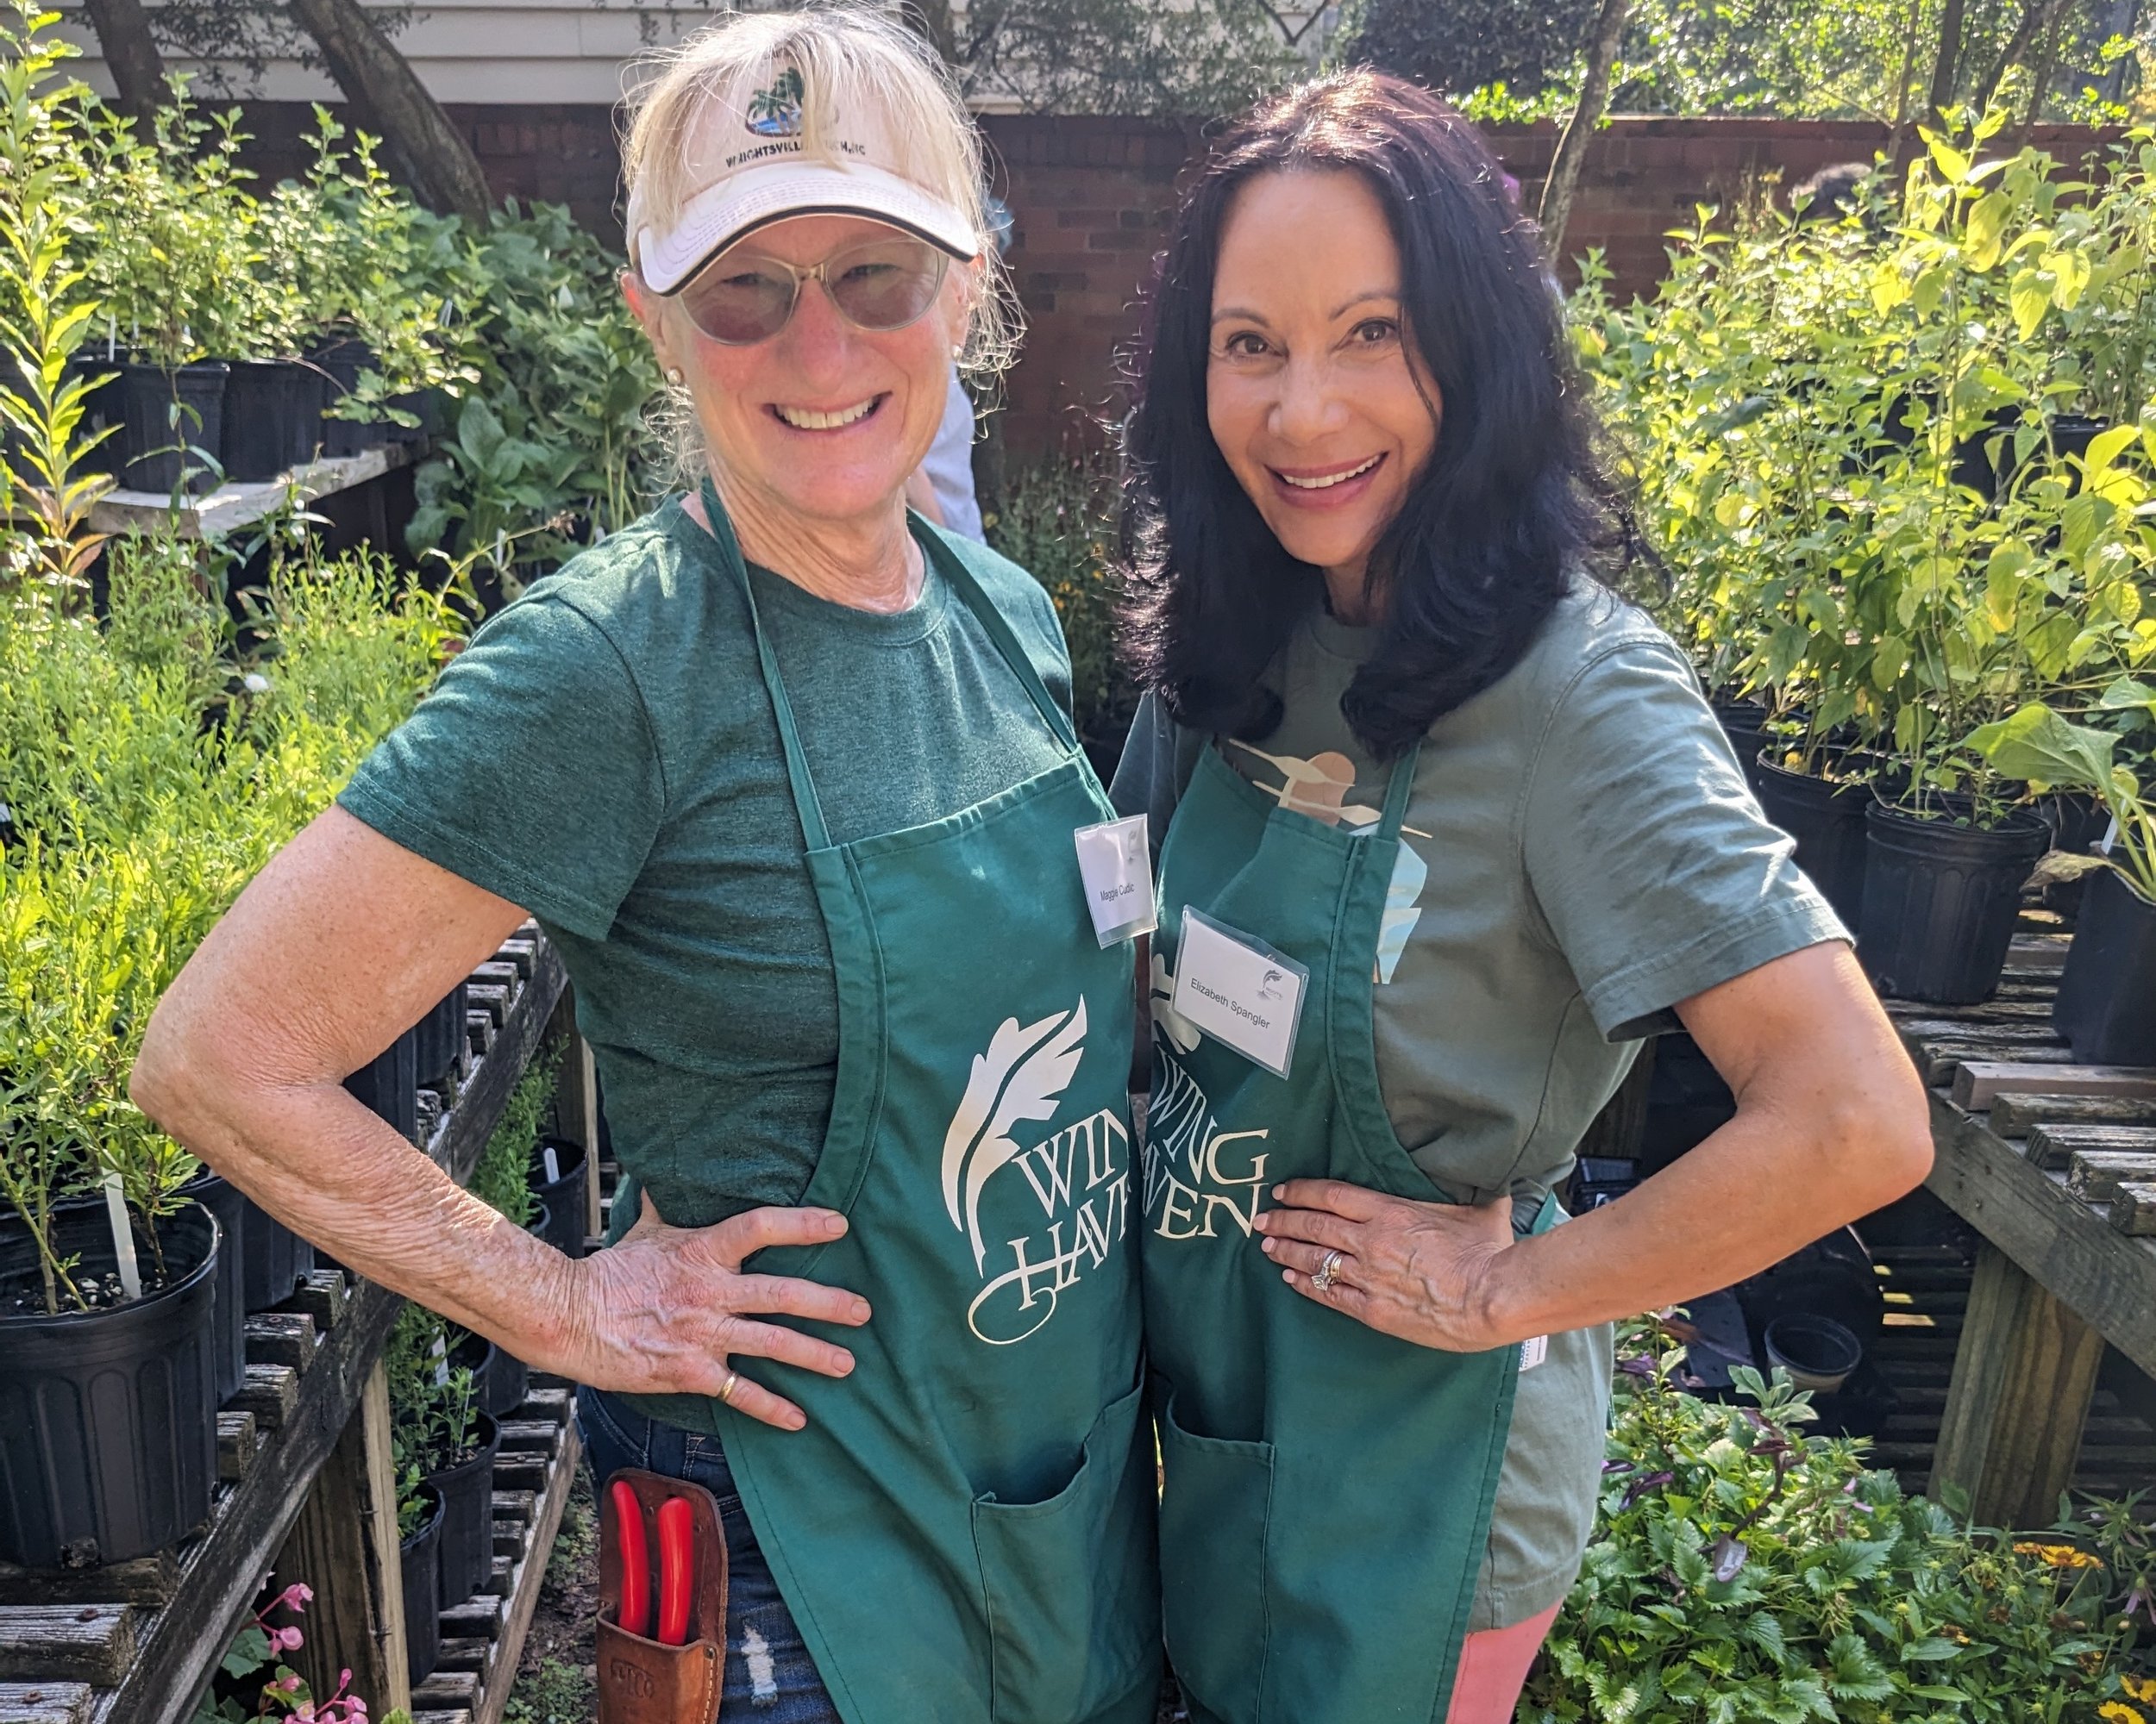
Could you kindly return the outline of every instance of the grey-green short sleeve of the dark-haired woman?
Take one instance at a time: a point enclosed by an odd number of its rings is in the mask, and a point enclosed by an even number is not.
[[[1611,1041],[1673,1028],[1682,1000],[1848,940],[1768,825],[1684,655],[1634,638],[1589,662],[1526,789],[1529,884]]]

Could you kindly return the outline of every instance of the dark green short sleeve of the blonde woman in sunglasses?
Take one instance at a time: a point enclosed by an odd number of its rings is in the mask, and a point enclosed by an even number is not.
[[[658,836],[664,776],[621,653],[541,593],[472,638],[338,804],[541,922],[604,940]]]

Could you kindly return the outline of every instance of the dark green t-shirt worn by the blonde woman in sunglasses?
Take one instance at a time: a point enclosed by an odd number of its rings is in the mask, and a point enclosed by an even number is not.
[[[916,532],[964,558],[1069,707],[1039,584]],[[837,843],[944,819],[1063,759],[934,558],[895,616],[763,569],[750,582]],[[614,1153],[668,1222],[800,1202],[830,1121],[837,983],[748,606],[677,500],[479,629],[338,802],[539,918]],[[966,987],[972,957],[949,961]]]

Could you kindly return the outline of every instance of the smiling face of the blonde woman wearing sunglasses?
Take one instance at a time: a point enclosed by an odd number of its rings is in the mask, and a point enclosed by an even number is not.
[[[862,215],[796,215],[744,244],[798,267],[890,239]],[[897,509],[929,453],[966,338],[970,272],[953,263],[936,304],[903,330],[858,330],[821,282],[802,282],[793,317],[770,340],[727,347],[651,293],[634,272],[623,293],[660,364],[681,371],[729,509],[852,524]]]

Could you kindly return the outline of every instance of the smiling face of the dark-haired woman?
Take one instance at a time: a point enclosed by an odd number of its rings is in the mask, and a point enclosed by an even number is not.
[[[1358,610],[1369,554],[1438,444],[1438,388],[1401,312],[1399,248],[1356,172],[1268,172],[1227,213],[1205,418],[1289,556]]]

